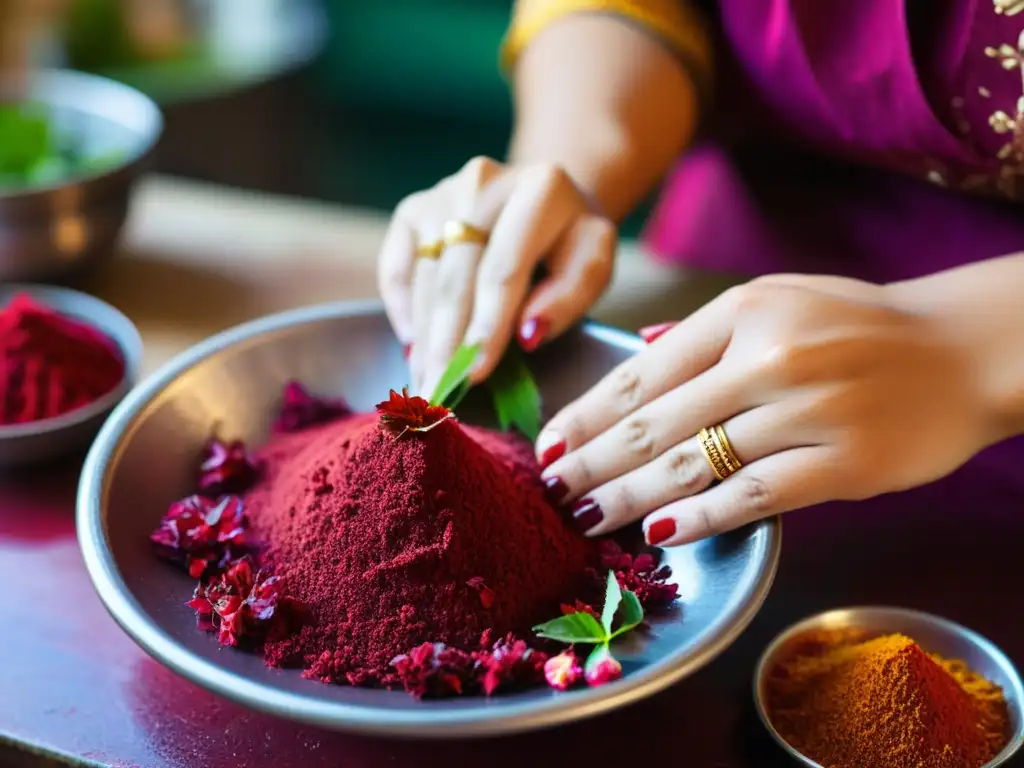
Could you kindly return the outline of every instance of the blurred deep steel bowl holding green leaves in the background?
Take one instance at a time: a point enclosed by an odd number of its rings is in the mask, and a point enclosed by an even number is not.
[[[132,187],[163,132],[160,109],[113,80],[67,71],[0,77],[0,103],[31,101],[90,153],[123,162],[99,175],[24,191],[0,190],[0,281],[55,281],[112,255]]]

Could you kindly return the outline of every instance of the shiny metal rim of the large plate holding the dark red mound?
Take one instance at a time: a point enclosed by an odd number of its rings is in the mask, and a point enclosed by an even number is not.
[[[379,301],[331,303],[286,311],[238,326],[201,342],[165,365],[135,387],[108,419],[82,468],[76,505],[78,539],[86,570],[104,607],[146,653],[201,687],[278,717],[368,735],[471,738],[549,728],[638,701],[705,667],[739,637],[764,603],[775,577],[781,549],[781,522],[777,517],[757,523],[766,532],[766,556],[755,588],[731,613],[719,618],[713,626],[717,631],[710,632],[710,637],[696,649],[688,651],[682,658],[671,659],[671,663],[650,665],[614,683],[569,691],[543,701],[505,705],[500,713],[484,706],[486,701],[481,699],[480,707],[449,711],[442,718],[432,715],[428,705],[422,710],[388,712],[387,718],[382,718],[380,710],[325,701],[261,685],[196,657],[157,628],[121,579],[105,544],[101,517],[102,500],[108,490],[102,478],[126,427],[179,375],[227,346],[244,344],[254,337],[293,325],[382,311]],[[585,330],[625,348],[640,348],[639,340],[624,331],[595,323],[586,324]]]

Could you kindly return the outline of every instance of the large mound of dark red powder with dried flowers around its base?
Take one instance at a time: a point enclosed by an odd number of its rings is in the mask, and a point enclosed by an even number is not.
[[[274,432],[258,456],[209,440],[201,495],[171,505],[151,537],[200,580],[187,603],[200,629],[271,666],[416,696],[545,679],[564,690],[583,676],[579,659],[531,647],[534,625],[559,608],[597,616],[586,600],[608,569],[648,610],[677,597],[652,552],[567,526],[518,437],[406,392],[351,416],[297,382]],[[617,676],[617,662],[607,666],[591,684]]]

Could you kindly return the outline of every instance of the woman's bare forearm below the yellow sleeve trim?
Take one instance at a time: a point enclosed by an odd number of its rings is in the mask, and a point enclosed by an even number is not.
[[[514,70],[514,163],[553,163],[613,219],[692,139],[697,89],[683,60],[629,20],[578,13],[540,33]]]

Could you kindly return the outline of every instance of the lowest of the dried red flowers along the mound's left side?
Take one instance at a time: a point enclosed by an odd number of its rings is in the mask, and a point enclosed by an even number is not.
[[[283,637],[300,613],[300,606],[285,596],[281,578],[254,570],[248,557],[201,583],[186,605],[195,608],[201,630],[216,632],[221,645],[234,646]]]

